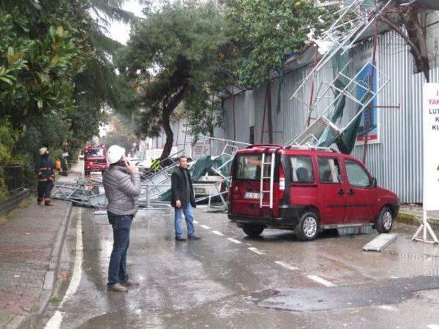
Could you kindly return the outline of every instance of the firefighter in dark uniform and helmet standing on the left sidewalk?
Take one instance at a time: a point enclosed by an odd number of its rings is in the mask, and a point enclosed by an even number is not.
[[[38,199],[37,204],[44,200],[45,206],[53,206],[51,203],[51,191],[54,187],[54,164],[49,158],[47,147],[40,148],[40,158],[35,167],[36,179],[38,180]]]

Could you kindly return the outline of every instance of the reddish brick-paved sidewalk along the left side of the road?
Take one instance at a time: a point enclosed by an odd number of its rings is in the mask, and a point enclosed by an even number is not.
[[[49,302],[72,210],[71,202],[53,202],[38,206],[32,195],[0,224],[0,328],[29,328]]]

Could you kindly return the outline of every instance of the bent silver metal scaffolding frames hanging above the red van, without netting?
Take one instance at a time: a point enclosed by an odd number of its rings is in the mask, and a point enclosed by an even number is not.
[[[335,13],[338,14],[338,19],[322,34],[321,41],[327,42],[331,45],[331,49],[326,51],[323,56],[313,66],[311,72],[302,80],[300,86],[294,91],[290,99],[296,99],[300,103],[306,106],[308,109],[308,122],[307,127],[300,134],[287,141],[286,145],[311,145],[318,146],[324,140],[333,140],[346,129],[353,124],[361,114],[363,114],[366,108],[370,107],[373,99],[381,92],[381,90],[388,84],[390,79],[385,77],[382,73],[378,72],[375,62],[366,63],[358,73],[351,77],[348,74],[348,66],[351,65],[349,61],[333,78],[332,82],[320,83],[316,95],[313,95],[314,77],[332,58],[335,56],[341,56],[349,51],[353,45],[364,36],[365,32],[370,29],[372,23],[377,21],[377,16],[381,14],[388,5],[392,3],[392,0],[388,0],[386,3],[377,3],[377,1],[370,0],[353,0],[349,5],[344,5],[340,10]],[[375,45],[376,47],[376,45]],[[377,91],[374,91],[373,83],[370,82],[357,82],[359,74],[366,69],[366,67],[372,67],[372,76],[378,76],[381,80],[381,84]],[[335,84],[337,80],[346,80],[347,84],[344,88],[338,88]],[[311,82],[311,96],[309,102],[305,99],[301,99],[298,95],[305,88],[305,85]],[[364,95],[361,99],[358,99],[355,95],[356,88],[364,90],[364,93],[368,95],[364,99]],[[356,104],[357,112],[354,117],[348,121],[347,124],[343,123],[340,118],[337,122],[333,120],[333,114],[336,110],[337,102],[342,97],[345,97],[348,101]],[[331,99],[329,106],[324,108],[320,117],[313,119],[311,123],[311,114],[317,110],[322,99]],[[332,138],[331,138],[332,137]]]

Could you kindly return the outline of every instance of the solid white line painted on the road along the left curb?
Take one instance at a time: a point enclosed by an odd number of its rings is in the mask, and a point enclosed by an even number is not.
[[[76,221],[76,254],[75,254],[75,265],[73,266],[73,274],[71,276],[69,288],[66,294],[58,306],[55,314],[47,322],[45,329],[58,329],[62,324],[62,318],[64,313],[60,312],[60,308],[64,303],[69,300],[69,298],[75,295],[80,286],[81,276],[82,276],[82,259],[83,259],[83,245],[82,245],[82,208],[78,208],[78,219]]]

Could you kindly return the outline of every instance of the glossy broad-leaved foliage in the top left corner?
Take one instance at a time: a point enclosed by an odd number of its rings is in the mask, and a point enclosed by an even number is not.
[[[73,7],[81,1],[1,3],[0,114],[19,126],[23,117],[73,110],[71,77],[84,68],[87,51]]]

